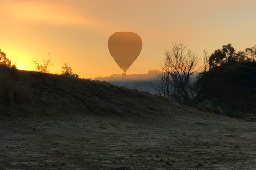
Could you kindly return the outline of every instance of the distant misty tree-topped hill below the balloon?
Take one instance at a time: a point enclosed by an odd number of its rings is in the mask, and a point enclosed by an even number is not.
[[[124,86],[130,89],[150,92],[156,94],[152,84],[157,79],[157,75],[161,74],[159,70],[149,70],[147,74],[122,75],[113,74],[110,77],[97,77],[94,80],[106,81],[116,86]]]

